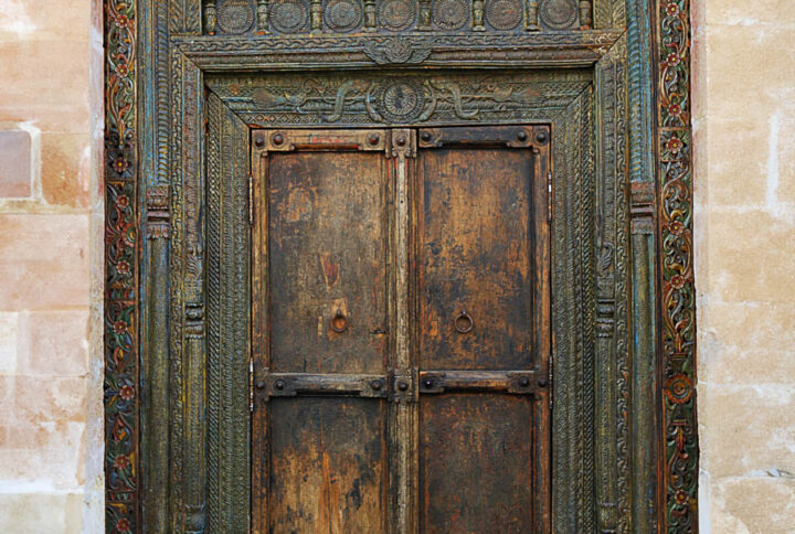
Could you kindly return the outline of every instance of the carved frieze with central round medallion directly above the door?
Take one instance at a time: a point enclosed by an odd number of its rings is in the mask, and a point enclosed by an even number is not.
[[[208,85],[251,126],[498,124],[549,119],[582,93],[589,79],[576,70],[458,76],[335,73],[219,76]]]

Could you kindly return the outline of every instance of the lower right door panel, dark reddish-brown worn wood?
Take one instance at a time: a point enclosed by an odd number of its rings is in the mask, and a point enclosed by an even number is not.
[[[531,400],[471,393],[421,398],[421,532],[529,531]]]

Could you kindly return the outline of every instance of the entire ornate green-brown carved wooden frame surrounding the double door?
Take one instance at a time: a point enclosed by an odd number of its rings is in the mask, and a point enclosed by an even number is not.
[[[205,530],[212,131],[227,125],[220,164],[235,169],[254,126],[523,121],[560,139],[553,269],[576,281],[553,297],[570,305],[553,313],[570,380],[555,383],[553,427],[571,452],[553,471],[584,474],[553,482],[554,531],[697,531],[689,1],[500,0],[516,20],[492,19],[489,1],[409,1],[405,34],[380,22],[385,1],[346,0],[327,22],[327,4],[296,1],[300,35],[278,34],[294,15],[268,22],[284,0],[105,0],[106,530]],[[306,95],[268,94],[300,73],[333,95],[303,107]],[[384,107],[395,77],[418,110]],[[593,425],[570,418],[581,406]]]

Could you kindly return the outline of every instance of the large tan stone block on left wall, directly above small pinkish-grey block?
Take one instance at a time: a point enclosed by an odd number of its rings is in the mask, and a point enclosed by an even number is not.
[[[89,131],[87,42],[0,42],[0,121],[30,120],[43,131]]]

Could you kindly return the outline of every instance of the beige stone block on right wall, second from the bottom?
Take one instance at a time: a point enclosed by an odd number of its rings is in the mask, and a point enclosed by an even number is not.
[[[701,467],[714,481],[757,473],[795,473],[795,388],[791,385],[701,389]]]

